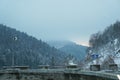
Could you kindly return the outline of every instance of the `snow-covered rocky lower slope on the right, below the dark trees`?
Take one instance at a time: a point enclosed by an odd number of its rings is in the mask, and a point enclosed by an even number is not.
[[[120,46],[118,39],[114,39],[108,44],[100,47],[97,51],[90,50],[89,53],[98,54],[99,57],[87,63],[86,68],[91,64],[102,64],[106,59],[112,59],[120,67]],[[109,60],[108,59],[108,60]]]

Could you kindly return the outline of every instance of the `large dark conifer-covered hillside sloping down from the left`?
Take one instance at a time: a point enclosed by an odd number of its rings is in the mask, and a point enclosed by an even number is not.
[[[63,65],[65,54],[41,40],[0,24],[0,67]]]

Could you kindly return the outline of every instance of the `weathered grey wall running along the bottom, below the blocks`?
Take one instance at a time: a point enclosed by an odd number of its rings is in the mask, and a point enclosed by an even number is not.
[[[120,80],[119,71],[75,69],[5,69],[0,80]]]

